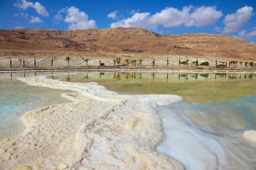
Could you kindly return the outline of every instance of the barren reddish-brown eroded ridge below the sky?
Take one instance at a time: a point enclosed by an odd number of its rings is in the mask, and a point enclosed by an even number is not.
[[[145,28],[0,30],[1,49],[255,59],[256,45],[229,35],[160,35]]]

